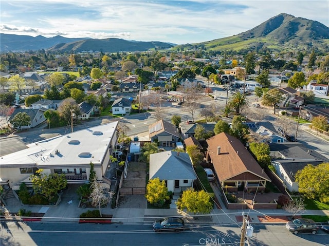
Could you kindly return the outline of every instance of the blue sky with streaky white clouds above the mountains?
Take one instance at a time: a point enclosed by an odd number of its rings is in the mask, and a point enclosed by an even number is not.
[[[175,44],[247,31],[280,13],[329,27],[329,0],[0,0],[0,32]]]

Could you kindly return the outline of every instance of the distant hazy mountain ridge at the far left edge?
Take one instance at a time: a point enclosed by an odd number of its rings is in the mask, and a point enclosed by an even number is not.
[[[8,51],[28,51],[28,50],[41,50],[48,49],[57,44],[77,42],[86,40],[85,38],[67,38],[60,35],[53,37],[44,36],[27,36],[0,33],[0,50],[1,52]]]

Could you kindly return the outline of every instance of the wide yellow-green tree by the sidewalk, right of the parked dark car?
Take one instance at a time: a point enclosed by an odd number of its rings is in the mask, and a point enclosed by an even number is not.
[[[180,210],[186,209],[187,212],[194,214],[208,214],[212,210],[210,195],[205,191],[194,191],[190,188],[183,192],[177,201],[177,207]]]

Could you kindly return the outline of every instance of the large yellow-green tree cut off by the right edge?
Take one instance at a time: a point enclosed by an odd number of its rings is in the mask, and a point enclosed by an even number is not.
[[[317,166],[308,164],[296,173],[295,180],[298,182],[298,191],[308,199],[329,202],[329,163]]]

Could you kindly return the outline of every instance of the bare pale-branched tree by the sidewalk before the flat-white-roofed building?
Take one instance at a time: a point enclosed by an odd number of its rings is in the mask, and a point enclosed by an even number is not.
[[[103,217],[101,207],[107,203],[111,203],[115,192],[108,191],[102,186],[101,182],[97,182],[97,179],[90,185],[90,190],[92,190],[89,196],[92,199],[92,205],[95,207],[98,206],[99,215]]]

